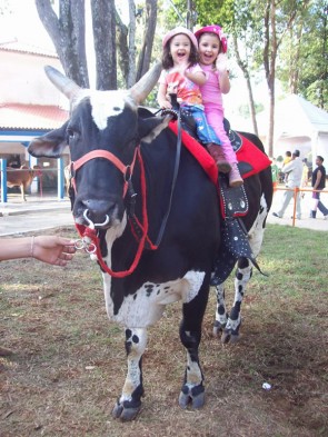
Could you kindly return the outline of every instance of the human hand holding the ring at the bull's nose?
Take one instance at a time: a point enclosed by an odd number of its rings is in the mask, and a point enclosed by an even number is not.
[[[31,256],[52,266],[66,266],[76,252],[74,241],[58,236],[32,237]]]

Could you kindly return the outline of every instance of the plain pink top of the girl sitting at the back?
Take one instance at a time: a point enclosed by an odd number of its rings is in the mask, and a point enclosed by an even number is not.
[[[212,69],[212,66],[201,66],[205,71],[207,81],[200,87],[202,105],[206,108],[223,109],[222,93],[219,85],[219,72]]]

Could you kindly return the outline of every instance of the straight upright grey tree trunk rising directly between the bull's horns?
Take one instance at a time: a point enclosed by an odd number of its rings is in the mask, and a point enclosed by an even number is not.
[[[116,8],[113,0],[92,0],[96,88],[117,89]]]

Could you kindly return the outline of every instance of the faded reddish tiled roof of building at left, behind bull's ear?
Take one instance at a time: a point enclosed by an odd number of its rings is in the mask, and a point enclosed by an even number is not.
[[[68,111],[56,106],[2,103],[0,130],[52,130],[68,117]]]

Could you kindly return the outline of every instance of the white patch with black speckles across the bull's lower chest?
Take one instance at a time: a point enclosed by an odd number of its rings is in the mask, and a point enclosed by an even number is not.
[[[199,292],[205,271],[188,271],[183,278],[165,284],[146,282],[133,295],[125,298],[117,315],[110,296],[111,279],[103,276],[108,317],[129,328],[143,328],[160,319],[167,304],[191,301]]]

